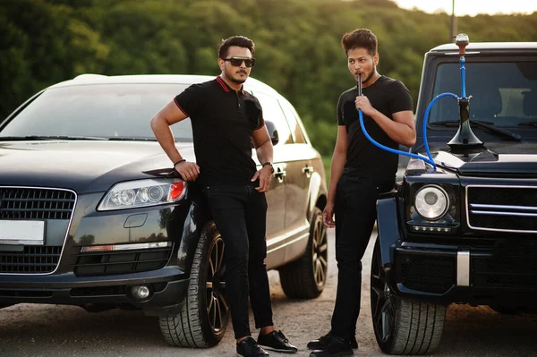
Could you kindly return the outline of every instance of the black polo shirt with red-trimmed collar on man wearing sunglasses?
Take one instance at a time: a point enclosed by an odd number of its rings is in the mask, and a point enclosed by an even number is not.
[[[251,132],[265,124],[258,99],[217,77],[185,89],[175,104],[191,118],[200,183],[252,184]]]

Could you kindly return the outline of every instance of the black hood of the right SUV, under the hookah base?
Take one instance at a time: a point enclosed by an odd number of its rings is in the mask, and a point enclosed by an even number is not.
[[[537,144],[499,143],[465,153],[438,151],[434,160],[463,176],[537,177]]]

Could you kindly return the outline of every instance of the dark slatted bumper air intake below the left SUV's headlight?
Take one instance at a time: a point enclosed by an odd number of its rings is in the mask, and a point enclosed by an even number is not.
[[[77,276],[106,276],[136,273],[163,268],[173,246],[136,251],[105,251],[76,255],[74,274]]]

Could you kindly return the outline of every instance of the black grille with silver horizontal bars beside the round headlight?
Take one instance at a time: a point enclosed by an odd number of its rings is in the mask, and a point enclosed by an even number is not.
[[[466,187],[468,226],[499,232],[537,233],[537,187]]]

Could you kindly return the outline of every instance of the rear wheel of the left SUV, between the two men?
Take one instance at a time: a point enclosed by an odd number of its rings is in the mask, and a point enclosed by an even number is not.
[[[280,283],[289,298],[316,298],[326,285],[327,270],[327,229],[322,223],[322,212],[315,208],[306,251],[301,259],[279,269]]]

